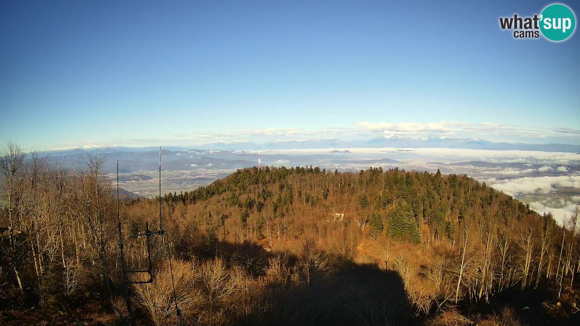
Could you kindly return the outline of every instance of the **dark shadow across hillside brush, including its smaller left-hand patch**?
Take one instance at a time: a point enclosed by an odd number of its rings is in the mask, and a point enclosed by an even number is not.
[[[296,276],[303,264],[296,255],[267,253],[255,242],[215,245],[218,256],[247,269],[249,275],[263,276],[269,259],[280,256],[284,256],[285,266],[292,271],[284,284],[268,281],[258,298],[252,299],[253,307],[259,309],[236,316],[230,320],[233,324],[419,325],[423,321],[409,303],[398,273],[375,264],[330,257],[332,272],[306,282]]]

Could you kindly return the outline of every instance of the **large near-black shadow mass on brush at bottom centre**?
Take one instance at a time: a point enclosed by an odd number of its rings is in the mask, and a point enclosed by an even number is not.
[[[284,292],[275,292],[277,305],[260,324],[419,324],[397,273],[372,265],[346,264],[339,275],[315,282],[310,288],[292,284]]]

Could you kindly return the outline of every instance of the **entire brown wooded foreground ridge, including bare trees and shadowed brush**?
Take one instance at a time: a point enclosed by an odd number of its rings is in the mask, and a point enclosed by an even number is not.
[[[58,169],[14,144],[1,159],[0,323],[16,323],[31,306],[61,324],[119,323],[115,309],[128,313],[103,160]],[[567,324],[578,316],[578,209],[563,227],[466,175],[254,167],[161,204],[168,233],[150,244],[154,282],[131,287],[139,324],[176,324],[170,255],[187,325]],[[159,198],[125,201],[120,211],[125,235],[146,222],[158,229]],[[126,266],[146,268],[144,240],[126,236],[124,248]],[[528,313],[517,301],[500,306],[507,293],[542,299]]]

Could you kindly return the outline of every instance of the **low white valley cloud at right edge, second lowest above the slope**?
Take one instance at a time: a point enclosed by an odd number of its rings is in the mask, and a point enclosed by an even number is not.
[[[580,176],[526,176],[507,180],[490,179],[488,183],[509,195],[548,194],[564,187],[580,189]]]

